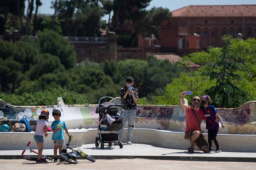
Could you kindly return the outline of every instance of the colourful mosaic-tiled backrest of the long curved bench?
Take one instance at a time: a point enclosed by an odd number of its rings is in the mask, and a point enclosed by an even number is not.
[[[117,103],[119,99],[117,98]],[[99,124],[99,115],[95,113],[98,105],[65,105],[62,98],[57,99],[57,105],[49,106],[13,106],[0,99],[0,124],[1,120],[21,119],[24,115],[29,120],[37,120],[43,108],[57,108],[65,106],[65,109],[78,107],[84,125],[96,128]],[[135,118],[135,126],[152,128],[152,125],[160,129],[172,131],[185,130],[185,114],[178,106],[164,105],[138,105]],[[216,108],[219,115],[226,123],[228,134],[255,134],[256,133],[256,101],[250,101],[238,108]],[[79,112],[79,111],[78,111]],[[156,127],[156,126],[155,126]]]

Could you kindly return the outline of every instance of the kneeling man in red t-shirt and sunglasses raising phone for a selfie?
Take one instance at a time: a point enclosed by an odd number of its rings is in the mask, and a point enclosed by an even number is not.
[[[198,144],[196,143],[196,140],[201,134],[201,128],[197,122],[197,119],[193,113],[193,110],[196,113],[200,124],[202,120],[205,121],[205,117],[204,117],[203,111],[199,108],[200,97],[194,96],[191,102],[191,107],[190,107],[190,106],[184,105],[183,97],[186,96],[185,93],[186,91],[183,91],[180,94],[180,106],[186,112],[185,139],[190,141],[188,152],[194,153],[195,146],[196,145],[198,146]],[[200,149],[204,152],[209,152],[208,146],[202,146]]]

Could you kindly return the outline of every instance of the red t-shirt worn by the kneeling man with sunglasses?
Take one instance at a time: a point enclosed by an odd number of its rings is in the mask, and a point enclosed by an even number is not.
[[[195,110],[194,110],[195,111]],[[195,111],[199,122],[201,124],[202,120],[205,119],[204,117],[204,113],[201,109],[198,108],[198,111]],[[188,131],[194,131],[194,130],[198,130],[200,131],[200,126],[196,120],[196,117],[191,109],[190,106],[188,106],[188,110],[186,111],[186,129],[185,129],[185,133]]]

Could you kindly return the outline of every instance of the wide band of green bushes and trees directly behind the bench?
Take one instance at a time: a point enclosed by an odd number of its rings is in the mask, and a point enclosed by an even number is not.
[[[57,97],[66,104],[96,104],[103,96],[119,97],[130,75],[138,104],[178,105],[187,90],[193,91],[186,96],[189,103],[208,94],[216,107],[238,107],[256,99],[256,40],[223,40],[224,47],[209,47],[175,64],[149,56],[79,65],[73,47],[51,30],[39,32],[38,39],[0,41],[0,98],[13,105],[55,105]]]

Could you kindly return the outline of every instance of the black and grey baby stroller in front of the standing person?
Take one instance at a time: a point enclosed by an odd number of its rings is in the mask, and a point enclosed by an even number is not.
[[[115,104],[112,102],[103,102],[100,104],[102,99],[113,99]],[[121,115],[118,112],[118,107],[121,107]],[[113,143],[118,143],[120,148],[123,148],[123,143],[118,137],[118,131],[123,128],[123,113],[124,105],[117,105],[116,101],[112,97],[102,97],[99,100],[98,107],[95,113],[99,113],[99,126],[98,133],[95,138],[95,146],[104,148],[104,143],[108,143],[108,146],[111,147]],[[107,127],[101,127],[101,125],[106,125]],[[109,131],[110,133],[102,133],[102,131]]]

